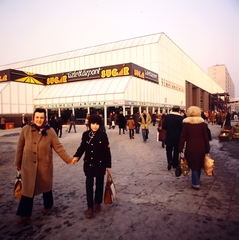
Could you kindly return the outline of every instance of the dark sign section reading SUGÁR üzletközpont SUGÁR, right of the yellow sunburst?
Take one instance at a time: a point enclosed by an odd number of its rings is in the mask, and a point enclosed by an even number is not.
[[[66,73],[52,74],[47,77],[46,84],[50,85],[66,82],[91,80],[97,78],[110,78],[129,75],[154,83],[158,83],[157,73],[154,73],[133,63],[126,63],[107,67],[97,67]]]

